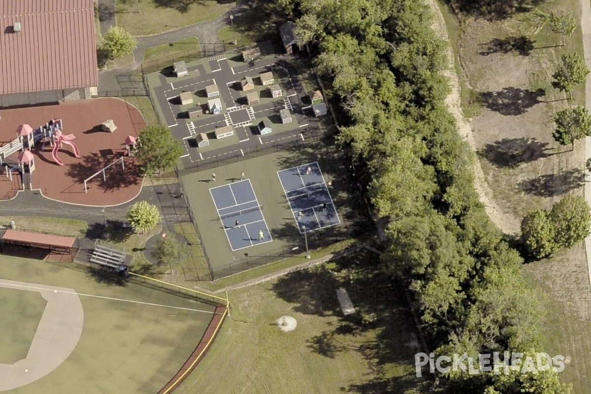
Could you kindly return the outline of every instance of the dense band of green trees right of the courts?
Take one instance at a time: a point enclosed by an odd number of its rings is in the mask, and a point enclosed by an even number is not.
[[[472,151],[444,103],[445,43],[431,30],[430,11],[409,0],[277,4],[296,20],[296,35],[310,45],[327,93],[339,103],[339,144],[361,168],[356,172],[376,214],[389,219],[382,265],[413,295],[434,353],[477,359],[495,351],[543,351],[539,296],[521,276],[522,256],[486,216],[474,188]],[[558,211],[556,217],[568,220]],[[438,389],[451,393],[571,390],[552,369],[439,378]]]

